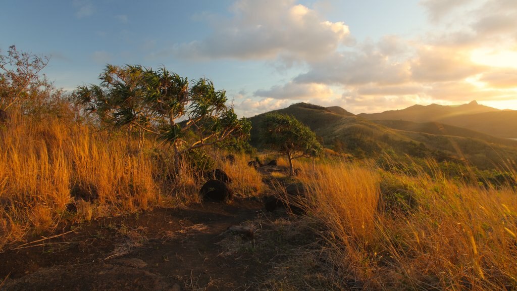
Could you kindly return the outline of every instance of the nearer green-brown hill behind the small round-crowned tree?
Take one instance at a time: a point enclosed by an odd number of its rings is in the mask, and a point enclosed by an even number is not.
[[[357,157],[394,152],[413,157],[434,157],[438,161],[467,159],[482,169],[503,165],[506,158],[517,159],[517,141],[449,125],[373,122],[340,107],[326,108],[306,103],[272,112],[293,115],[309,126],[325,147]],[[255,147],[261,147],[260,127],[265,114],[249,119],[252,123],[250,143]]]

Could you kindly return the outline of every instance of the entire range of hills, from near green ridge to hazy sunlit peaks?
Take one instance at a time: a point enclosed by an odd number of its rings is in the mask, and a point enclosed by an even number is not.
[[[514,113],[478,105],[475,102],[460,106],[416,105],[403,110],[358,115],[338,106],[322,107],[298,103],[274,112],[293,115],[309,126],[322,139],[326,148],[354,156],[370,157],[391,152],[414,157],[434,157],[438,161],[466,160],[481,169],[505,165],[507,158],[517,160],[515,140],[431,120],[438,117],[440,120],[458,119],[458,123],[466,123],[466,120],[473,119],[461,117],[495,114],[495,117],[489,116],[490,122],[495,122],[504,118],[504,115],[496,113]],[[404,113],[407,113],[408,118],[402,118]],[[261,147],[259,132],[264,114],[266,113],[250,118],[250,143],[255,147]],[[390,118],[392,120],[389,120]],[[485,128],[488,128],[488,125],[486,126]],[[494,126],[508,127],[506,122]],[[505,130],[501,129],[500,132]],[[511,137],[511,130],[506,134]]]

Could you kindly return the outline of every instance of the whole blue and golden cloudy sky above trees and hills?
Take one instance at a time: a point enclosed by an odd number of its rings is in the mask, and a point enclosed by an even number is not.
[[[106,64],[164,66],[226,90],[246,117],[298,102],[517,110],[516,0],[20,0],[0,50],[50,56],[73,91]]]

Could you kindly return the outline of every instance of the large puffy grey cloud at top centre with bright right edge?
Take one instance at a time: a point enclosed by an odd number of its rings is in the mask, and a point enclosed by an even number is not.
[[[294,0],[240,0],[231,18],[212,21],[205,39],[180,43],[173,52],[193,59],[316,60],[345,45],[348,26],[331,22]]]

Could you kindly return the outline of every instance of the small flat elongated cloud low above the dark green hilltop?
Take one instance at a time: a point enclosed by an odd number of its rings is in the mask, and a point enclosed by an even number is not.
[[[257,90],[253,94],[257,97],[267,97],[274,99],[325,99],[333,95],[333,92],[324,84],[309,83],[299,84],[289,82],[285,85],[272,86],[269,90]]]

